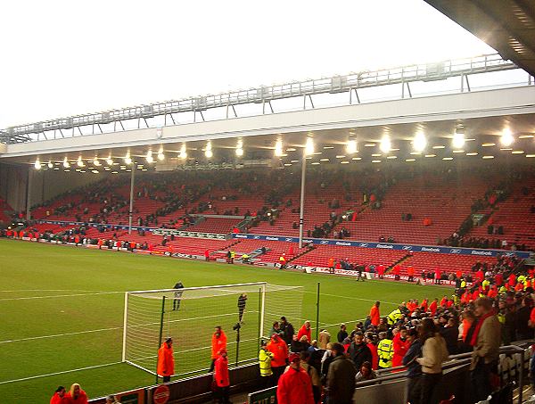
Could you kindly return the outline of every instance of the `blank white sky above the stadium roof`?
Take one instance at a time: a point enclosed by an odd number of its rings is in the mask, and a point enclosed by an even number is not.
[[[28,0],[0,15],[0,128],[494,52],[423,0]]]

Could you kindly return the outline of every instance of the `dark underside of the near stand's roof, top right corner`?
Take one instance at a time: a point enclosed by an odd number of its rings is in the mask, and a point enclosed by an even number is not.
[[[535,75],[535,2],[531,0],[425,0]]]

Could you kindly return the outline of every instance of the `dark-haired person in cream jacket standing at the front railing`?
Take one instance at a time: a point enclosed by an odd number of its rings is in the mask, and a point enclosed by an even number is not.
[[[433,400],[433,391],[442,377],[442,363],[448,360],[448,349],[432,318],[422,320],[418,338],[424,344],[422,358],[416,359],[422,366],[420,404],[434,404],[438,400]]]

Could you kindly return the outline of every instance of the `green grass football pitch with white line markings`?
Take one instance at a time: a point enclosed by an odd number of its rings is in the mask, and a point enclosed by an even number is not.
[[[0,401],[48,402],[60,384],[80,383],[89,397],[95,398],[154,383],[153,375],[120,363],[124,292],[165,289],[177,280],[190,287],[264,281],[302,285],[302,316],[313,323],[319,282],[320,326],[329,329],[333,338],[336,325],[349,323],[351,329],[351,323],[366,317],[376,300],[383,302],[382,314],[386,315],[400,301],[452,293],[438,286],[388,281],[357,283],[340,276],[3,239]],[[289,320],[296,329],[302,323],[300,319]],[[235,333],[228,328],[226,332],[232,342]],[[207,355],[208,351],[203,354]],[[210,363],[210,358],[202,355],[198,360],[199,367]]]

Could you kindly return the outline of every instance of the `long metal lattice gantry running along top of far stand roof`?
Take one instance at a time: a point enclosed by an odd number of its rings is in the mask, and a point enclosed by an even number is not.
[[[262,112],[266,113],[266,105],[273,113],[272,101],[284,98],[302,97],[303,109],[307,108],[307,99],[314,108],[312,95],[348,93],[347,103],[360,103],[358,89],[401,84],[400,97],[412,97],[408,83],[415,81],[429,82],[460,77],[460,92],[470,91],[468,75],[488,73],[494,71],[514,70],[518,67],[513,62],[504,61],[499,54],[487,54],[460,60],[449,60],[437,63],[414,64],[394,69],[361,71],[345,76],[330,78],[309,79],[295,81],[274,86],[262,86],[245,90],[231,91],[218,95],[202,95],[181,100],[150,103],[129,108],[100,111],[82,115],[60,118],[55,120],[42,120],[27,125],[13,126],[0,130],[0,143],[21,143],[71,136],[86,136],[102,134],[103,126],[112,124],[112,128],[104,128],[107,132],[125,130],[123,122],[137,120],[137,128],[159,128],[161,126],[176,125],[173,114],[193,112],[193,121],[197,120],[199,113],[202,120],[202,111],[214,108],[226,108],[226,119],[237,117],[235,106],[240,104],[262,104]],[[407,89],[406,89],[407,87]],[[347,104],[345,103],[345,104]],[[154,124],[149,119],[163,117],[163,122]],[[118,128],[119,125],[119,128]],[[90,127],[88,133],[82,128]],[[71,129],[70,134],[63,131]],[[78,132],[77,132],[78,130]],[[85,129],[86,130],[86,129]]]

